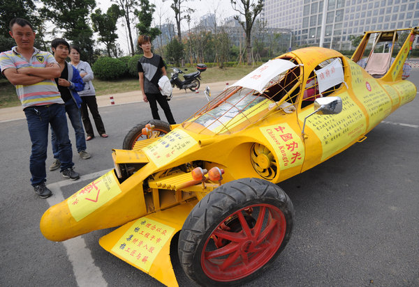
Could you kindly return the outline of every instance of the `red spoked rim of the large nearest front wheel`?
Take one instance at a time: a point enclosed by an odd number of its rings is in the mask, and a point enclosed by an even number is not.
[[[232,218],[240,224],[240,231],[228,230],[226,222]],[[247,277],[277,253],[285,233],[286,219],[276,206],[260,203],[242,208],[226,217],[208,237],[201,254],[203,272],[216,281]]]

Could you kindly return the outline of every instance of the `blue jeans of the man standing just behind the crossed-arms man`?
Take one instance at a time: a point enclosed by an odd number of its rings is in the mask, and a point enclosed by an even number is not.
[[[68,114],[68,118],[70,118],[71,125],[73,125],[75,132],[75,146],[77,147],[77,152],[80,153],[80,151],[86,150],[86,139],[84,139],[84,130],[82,117],[80,116],[80,109],[77,107],[77,104],[75,104],[73,99],[66,102],[66,112]],[[54,158],[58,158],[59,146],[57,140],[55,139],[53,130],[51,130],[51,143]]]

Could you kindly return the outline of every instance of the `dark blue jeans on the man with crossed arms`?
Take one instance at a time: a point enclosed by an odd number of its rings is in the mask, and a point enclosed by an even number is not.
[[[72,167],[73,152],[68,138],[66,109],[64,104],[48,104],[45,106],[27,107],[24,109],[27,118],[29,136],[32,141],[32,151],[29,160],[31,184],[39,185],[46,181],[45,160],[47,159],[48,126],[57,137],[59,145],[59,161],[61,171]]]

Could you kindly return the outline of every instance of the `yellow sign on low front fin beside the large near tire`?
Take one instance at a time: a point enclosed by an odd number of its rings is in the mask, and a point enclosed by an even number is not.
[[[142,217],[119,238],[111,253],[148,273],[154,259],[174,232],[175,228]]]

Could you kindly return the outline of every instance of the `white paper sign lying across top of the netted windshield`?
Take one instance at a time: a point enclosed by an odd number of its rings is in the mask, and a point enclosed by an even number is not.
[[[291,63],[288,60],[274,59],[264,63],[246,77],[235,82],[232,86],[251,88],[259,93],[263,93],[265,88],[267,88],[267,83],[269,83],[271,79],[295,66],[295,63]]]

